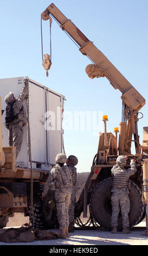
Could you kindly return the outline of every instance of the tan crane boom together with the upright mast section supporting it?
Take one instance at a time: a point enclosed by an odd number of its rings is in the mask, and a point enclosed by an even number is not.
[[[43,20],[48,20],[49,15],[52,15],[54,19],[59,23],[60,27],[66,31],[71,38],[80,46],[79,50],[83,55],[88,56],[94,64],[89,64],[86,67],[86,73],[90,78],[94,77],[106,77],[114,89],[119,89],[122,93],[121,99],[123,100],[123,120],[121,123],[127,122],[126,129],[121,135],[119,133],[119,144],[122,144],[120,151],[124,153],[127,151],[130,153],[129,147],[125,149],[129,141],[134,135],[134,141],[139,142],[137,132],[138,111],[145,105],[145,99],[139,94],[139,92],[132,86],[130,82],[115,68],[115,66],[106,58],[106,56],[93,44],[89,39],[74,25],[74,23],[67,19],[65,15],[52,3],[41,14]],[[120,126],[122,126],[120,124]],[[125,125],[124,125],[125,126]],[[120,140],[121,137],[122,142]],[[125,141],[126,140],[126,141]],[[137,147],[137,144],[136,144]]]

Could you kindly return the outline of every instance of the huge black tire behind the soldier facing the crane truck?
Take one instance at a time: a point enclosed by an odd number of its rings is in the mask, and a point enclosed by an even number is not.
[[[130,214],[129,214],[129,228],[139,223],[144,214],[144,204],[141,201],[141,190],[132,181],[128,181],[130,186]],[[107,230],[111,230],[111,189],[112,178],[107,178],[101,181],[93,190],[90,199],[91,212],[96,222]],[[122,229],[122,218],[119,213],[118,217],[118,230]]]

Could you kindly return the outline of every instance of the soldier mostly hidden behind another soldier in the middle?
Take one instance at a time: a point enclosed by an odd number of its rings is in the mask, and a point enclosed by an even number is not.
[[[76,156],[70,155],[67,159],[67,166],[72,175],[72,196],[71,202],[69,206],[69,232],[74,232],[74,208],[75,208],[75,200],[76,200],[76,164],[78,163],[78,159]]]

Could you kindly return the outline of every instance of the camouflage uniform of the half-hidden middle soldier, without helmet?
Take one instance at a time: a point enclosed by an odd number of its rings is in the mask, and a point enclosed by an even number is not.
[[[68,168],[70,170],[70,173],[72,175],[72,196],[70,200],[70,206],[69,206],[69,222],[74,222],[74,208],[75,208],[75,201],[76,201],[76,168],[73,164],[68,164]]]

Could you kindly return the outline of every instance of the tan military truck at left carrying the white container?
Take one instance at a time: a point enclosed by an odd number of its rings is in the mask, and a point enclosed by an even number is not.
[[[28,124],[23,127],[22,147],[16,159],[16,148],[11,144],[9,130],[5,127],[7,105],[4,97],[9,92],[14,92],[17,97],[23,85],[24,77],[0,80],[3,88],[0,101],[3,113],[0,115],[0,228],[7,225],[15,212],[29,216],[34,227],[43,228],[44,215],[48,218],[48,204],[42,205],[42,188],[55,165],[56,154],[63,151],[65,97],[29,78],[29,96],[23,101]],[[51,221],[49,219],[49,225]]]

